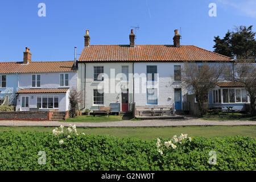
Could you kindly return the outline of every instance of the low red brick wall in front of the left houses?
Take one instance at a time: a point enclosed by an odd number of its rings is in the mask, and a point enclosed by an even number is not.
[[[10,111],[0,112],[0,120],[11,121],[49,121],[52,111]]]

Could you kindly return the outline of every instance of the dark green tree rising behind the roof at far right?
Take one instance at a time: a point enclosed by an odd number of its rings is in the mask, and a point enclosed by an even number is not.
[[[237,55],[237,59],[256,58],[256,40],[253,26],[236,27],[234,31],[228,31],[223,39],[214,36],[214,52],[225,56]]]

